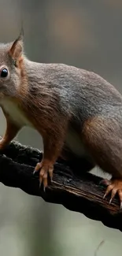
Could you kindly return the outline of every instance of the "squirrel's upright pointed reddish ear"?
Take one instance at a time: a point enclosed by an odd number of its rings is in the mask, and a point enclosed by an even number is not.
[[[23,34],[20,33],[19,37],[13,42],[12,46],[9,49],[9,55],[17,60],[21,57],[23,53]]]

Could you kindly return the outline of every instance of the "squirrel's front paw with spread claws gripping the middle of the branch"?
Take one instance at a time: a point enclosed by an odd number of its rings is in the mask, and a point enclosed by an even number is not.
[[[47,182],[48,174],[50,176],[50,180],[52,181],[54,164],[52,164],[52,162],[50,162],[50,161],[43,160],[43,161],[37,163],[37,165],[35,166],[34,173],[38,172],[39,170],[40,170],[40,172],[39,172],[39,187],[43,183],[43,190],[45,191],[45,188],[48,185],[48,182]]]

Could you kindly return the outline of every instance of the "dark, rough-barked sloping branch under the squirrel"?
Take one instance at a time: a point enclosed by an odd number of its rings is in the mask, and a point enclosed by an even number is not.
[[[68,210],[83,213],[88,218],[102,221],[105,226],[122,231],[122,213],[118,198],[109,205],[109,197],[102,199],[105,187],[99,185],[98,176],[87,173],[76,176],[66,162],[54,165],[53,183],[46,192],[39,188],[35,165],[42,158],[39,150],[12,142],[0,154],[0,181],[9,187],[19,187],[30,195],[42,197],[46,202],[62,204]],[[82,173],[82,172],[81,172]]]

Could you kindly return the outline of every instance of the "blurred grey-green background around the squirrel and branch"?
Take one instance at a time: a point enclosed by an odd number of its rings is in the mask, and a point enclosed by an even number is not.
[[[28,58],[92,70],[122,91],[121,0],[0,0],[0,41],[16,39],[22,20]],[[3,135],[2,111],[0,124]],[[17,139],[42,147],[30,128]],[[0,184],[2,256],[94,256],[102,241],[98,256],[121,256],[121,240],[121,232],[101,222]]]

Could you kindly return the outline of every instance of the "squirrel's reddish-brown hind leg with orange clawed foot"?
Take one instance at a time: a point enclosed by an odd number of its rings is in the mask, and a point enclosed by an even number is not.
[[[103,180],[107,185],[105,195],[111,192],[109,202],[116,194],[122,207],[122,134],[121,124],[114,119],[95,117],[83,125],[83,143],[91,156],[105,173],[112,175],[111,180]]]

